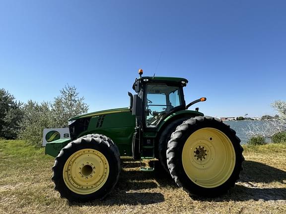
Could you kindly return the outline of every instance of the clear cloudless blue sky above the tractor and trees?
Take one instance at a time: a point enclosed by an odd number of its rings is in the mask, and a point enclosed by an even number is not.
[[[143,68],[187,78],[186,102],[207,97],[195,106],[206,115],[275,114],[285,11],[285,0],[0,0],[0,88],[42,102],[70,84],[89,111],[127,107]]]

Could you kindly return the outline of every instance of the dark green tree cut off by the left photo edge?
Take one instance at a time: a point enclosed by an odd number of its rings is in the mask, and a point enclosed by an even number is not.
[[[15,139],[19,131],[19,123],[23,117],[22,103],[15,101],[13,95],[0,89],[0,137]]]

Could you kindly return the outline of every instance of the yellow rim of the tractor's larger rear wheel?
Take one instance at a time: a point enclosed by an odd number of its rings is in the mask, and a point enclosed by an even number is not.
[[[229,138],[215,128],[202,128],[187,139],[182,152],[187,176],[197,185],[214,188],[232,174],[235,151]]]

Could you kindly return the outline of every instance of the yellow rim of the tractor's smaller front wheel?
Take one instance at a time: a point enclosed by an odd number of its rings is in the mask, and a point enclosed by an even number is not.
[[[105,156],[94,149],[82,149],[66,161],[63,178],[74,193],[87,195],[98,191],[106,182],[109,164]]]

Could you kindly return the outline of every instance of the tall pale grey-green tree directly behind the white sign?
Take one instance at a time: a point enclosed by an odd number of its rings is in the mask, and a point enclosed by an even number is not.
[[[83,102],[83,97],[78,97],[74,86],[65,85],[60,90],[61,95],[56,97],[52,104],[54,127],[63,128],[68,126],[68,119],[86,113],[88,105]]]

